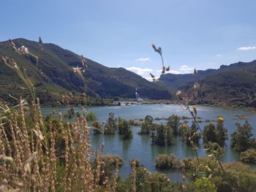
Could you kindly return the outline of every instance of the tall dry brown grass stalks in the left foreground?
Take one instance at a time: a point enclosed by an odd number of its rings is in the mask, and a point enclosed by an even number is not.
[[[4,104],[1,104],[4,108]],[[7,107],[7,106],[5,106]],[[97,166],[91,166],[91,142],[85,118],[75,123],[59,120],[45,122],[39,101],[25,110],[1,114],[0,121],[0,191],[115,191],[108,180],[99,185],[103,174],[103,147],[96,150]],[[27,118],[31,115],[31,120]]]

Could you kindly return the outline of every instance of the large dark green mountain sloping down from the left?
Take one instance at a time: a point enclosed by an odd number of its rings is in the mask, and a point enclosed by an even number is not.
[[[31,78],[41,100],[58,99],[61,94],[72,92],[83,93],[84,83],[81,77],[74,74],[72,67],[82,66],[80,55],[51,44],[29,41],[27,39],[12,40],[16,47],[25,46],[39,57],[19,55],[12,50],[10,42],[0,42],[0,56],[12,56],[20,69]],[[149,82],[138,74],[124,68],[109,68],[86,58],[88,69],[86,77],[87,94],[102,98],[123,97],[135,98],[135,89],[142,98],[170,99],[167,89],[155,82]],[[24,83],[13,69],[0,63],[0,97],[29,96]]]

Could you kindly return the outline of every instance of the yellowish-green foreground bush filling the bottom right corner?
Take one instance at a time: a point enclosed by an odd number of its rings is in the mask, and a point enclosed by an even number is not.
[[[214,158],[185,158],[184,168],[192,180],[208,177],[218,192],[251,192],[256,188],[256,172],[239,162],[222,164],[225,174]],[[211,176],[211,177],[210,177]]]

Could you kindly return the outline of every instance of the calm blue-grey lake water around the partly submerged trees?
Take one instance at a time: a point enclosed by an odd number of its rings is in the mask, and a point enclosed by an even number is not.
[[[75,112],[84,112],[80,108],[73,107]],[[43,115],[47,115],[55,110],[62,114],[67,113],[68,107],[42,107]],[[145,118],[146,115],[151,115],[153,118],[167,118],[170,115],[175,114],[178,116],[189,116],[189,112],[183,110],[179,104],[133,104],[131,106],[116,106],[116,107],[89,107],[89,111],[93,111],[99,121],[108,120],[108,113],[114,112],[115,117],[121,117],[126,120],[133,118]],[[58,114],[58,113],[57,113]],[[203,118],[202,120],[217,119],[217,116],[222,115],[225,119],[225,127],[227,128],[227,134],[230,139],[230,134],[236,130],[236,122],[243,124],[245,120],[238,120],[236,115],[244,115],[248,118],[250,125],[253,128],[254,137],[256,137],[256,113],[245,110],[225,110],[219,107],[203,107],[197,106],[197,116]],[[166,123],[165,120],[155,121],[156,123]],[[208,123],[200,123],[201,128]],[[171,180],[181,180],[181,172],[179,171],[160,171],[154,166],[154,160],[159,154],[174,153],[178,158],[194,157],[195,151],[192,147],[188,147],[186,142],[182,141],[181,138],[176,137],[173,145],[170,147],[159,147],[151,145],[151,137],[146,135],[139,135],[140,127],[132,127],[133,139],[123,141],[121,136],[115,135],[96,135],[91,134],[91,142],[95,147],[99,146],[100,142],[105,142],[105,154],[116,154],[123,157],[124,164],[121,166],[119,174],[121,177],[127,177],[131,172],[129,159],[139,158],[140,163],[148,169],[149,172],[162,172],[165,173]],[[230,140],[226,142],[227,150],[223,157],[223,162],[239,161],[239,154],[230,148]],[[198,150],[200,156],[206,156],[203,150],[203,141],[200,140],[200,146]],[[252,165],[255,169],[256,165]]]

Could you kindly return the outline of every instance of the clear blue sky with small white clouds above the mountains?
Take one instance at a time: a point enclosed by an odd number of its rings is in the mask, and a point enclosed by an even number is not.
[[[1,0],[0,41],[51,42],[150,79],[256,59],[255,0]]]

